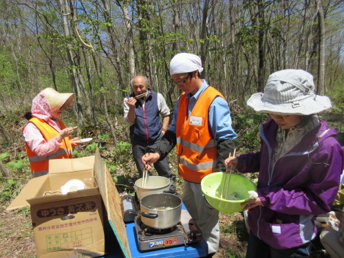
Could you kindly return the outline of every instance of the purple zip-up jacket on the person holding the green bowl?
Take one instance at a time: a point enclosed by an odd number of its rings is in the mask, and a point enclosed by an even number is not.
[[[259,171],[257,192],[264,206],[248,211],[248,224],[274,248],[301,246],[316,236],[313,215],[329,212],[338,191],[343,150],[334,138],[336,130],[321,120],[275,164],[270,162],[276,122],[266,121],[260,133],[261,150],[240,155],[237,163],[242,173]]]

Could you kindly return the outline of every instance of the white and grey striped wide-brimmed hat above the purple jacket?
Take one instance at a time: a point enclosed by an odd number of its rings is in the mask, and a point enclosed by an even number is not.
[[[260,113],[306,116],[332,107],[330,98],[314,93],[313,76],[301,69],[271,74],[264,94],[253,94],[247,105]]]

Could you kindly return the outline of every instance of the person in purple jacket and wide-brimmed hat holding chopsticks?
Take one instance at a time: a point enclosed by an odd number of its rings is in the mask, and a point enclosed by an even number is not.
[[[314,93],[311,74],[286,69],[247,104],[270,118],[260,127],[260,151],[225,161],[241,173],[259,171],[257,198],[241,204],[250,226],[246,257],[308,257],[313,216],[330,211],[343,167],[336,131],[312,115],[330,99]]]

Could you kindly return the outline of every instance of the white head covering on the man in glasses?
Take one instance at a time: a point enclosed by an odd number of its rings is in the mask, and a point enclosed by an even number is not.
[[[170,62],[170,75],[183,74],[186,72],[203,71],[200,56],[189,53],[180,53],[173,56]]]

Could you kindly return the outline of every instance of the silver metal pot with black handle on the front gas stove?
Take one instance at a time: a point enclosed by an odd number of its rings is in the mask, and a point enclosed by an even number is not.
[[[153,193],[140,201],[141,221],[151,228],[171,228],[180,222],[182,199],[171,193]]]

